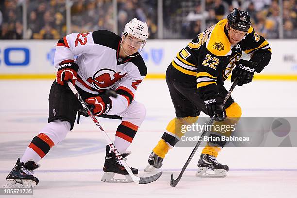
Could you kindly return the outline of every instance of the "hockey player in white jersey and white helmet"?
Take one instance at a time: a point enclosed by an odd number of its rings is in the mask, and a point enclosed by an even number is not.
[[[148,38],[147,24],[134,18],[126,24],[121,36],[107,30],[89,33],[72,33],[58,41],[54,65],[58,69],[56,81],[49,94],[48,124],[33,138],[25,153],[19,158],[6,178],[5,187],[34,187],[38,179],[33,176],[37,164],[52,148],[73,129],[80,102],[67,88],[71,81],[93,113],[107,118],[121,118],[115,134],[114,145],[125,158],[146,110],[135,101],[138,85],[147,74],[146,65],[139,54]],[[74,56],[77,58],[74,60]],[[118,97],[107,96],[114,90]],[[131,168],[138,174],[136,168]],[[106,147],[102,181],[132,182],[131,178],[114,179],[115,174],[128,175]]]

